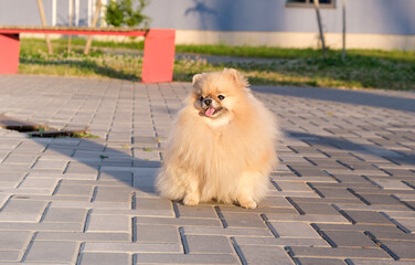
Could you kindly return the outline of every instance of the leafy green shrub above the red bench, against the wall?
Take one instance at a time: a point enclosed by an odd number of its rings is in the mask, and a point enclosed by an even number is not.
[[[143,28],[149,28],[151,19],[142,13],[149,3],[149,0],[139,0],[135,10],[132,0],[111,0],[106,8],[105,21],[114,26],[134,28],[142,24]]]

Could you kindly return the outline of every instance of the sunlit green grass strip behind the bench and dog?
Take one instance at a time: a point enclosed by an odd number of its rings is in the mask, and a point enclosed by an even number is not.
[[[73,39],[72,53],[67,40],[54,40],[54,55],[46,54],[44,40],[23,39],[20,73],[85,77],[111,77],[139,81],[142,60],[139,55],[107,52],[108,49],[142,50],[139,43],[93,43],[94,52],[82,54],[85,40]],[[104,50],[103,47],[106,47]],[[174,81],[190,82],[201,72],[234,67],[253,85],[323,86],[345,88],[415,89],[415,52],[349,50],[347,60],[341,51],[329,50],[328,59],[320,50],[279,49],[226,45],[177,45],[178,53],[232,55],[272,59],[270,63],[220,63],[183,59],[174,62]]]

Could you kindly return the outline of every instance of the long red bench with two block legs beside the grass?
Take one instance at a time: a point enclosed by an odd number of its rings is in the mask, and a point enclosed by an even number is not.
[[[173,78],[174,30],[151,29],[146,31],[117,28],[0,26],[0,74],[18,73],[20,33],[145,36],[142,83],[171,82]]]

